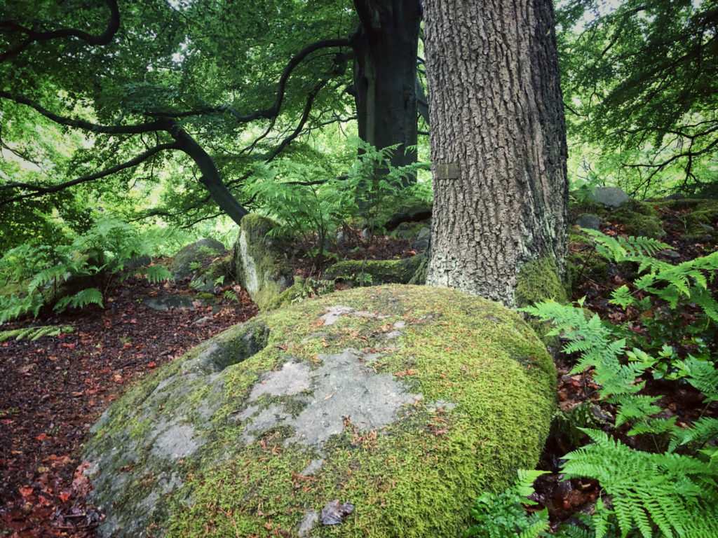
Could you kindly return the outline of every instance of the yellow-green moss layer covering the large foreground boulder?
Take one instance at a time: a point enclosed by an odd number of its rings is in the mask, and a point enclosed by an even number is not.
[[[357,315],[321,324],[320,316],[337,305]],[[269,334],[251,357],[192,378],[188,364],[216,345],[210,340],[111,407],[90,442],[90,459],[98,458],[98,448],[110,451],[105,463],[119,459],[111,447],[132,424],[138,428],[138,420],[146,428],[142,420],[149,415],[155,423],[178,415],[195,420],[197,438],[206,442],[168,463],[152,459],[151,435],[134,441],[129,449],[138,456],[126,484],[113,489],[111,480],[97,481],[95,494],[115,506],[109,518],[119,524],[134,518],[175,537],[296,537],[307,511],[339,499],[355,505],[353,514],[336,526],[318,524],[309,536],[454,538],[465,529],[475,496],[503,488],[516,468],[536,463],[554,412],[554,365],[521,317],[498,303],[443,288],[389,285],[332,293],[266,313],[260,322]],[[389,338],[396,326],[401,335]],[[242,341],[242,327],[221,336],[225,346]],[[393,374],[423,399],[378,431],[361,430],[348,417],[342,433],[322,448],[286,444],[292,431],[281,426],[243,443],[247,423],[239,414],[265,372],[290,357],[314,369],[322,364],[320,354],[348,347],[378,353],[372,369]],[[163,381],[173,396],[157,408],[152,394]],[[182,384],[190,384],[189,394]],[[208,402],[209,417],[202,412]],[[319,471],[302,476],[317,458],[324,459]],[[101,472],[111,473],[112,465]],[[127,486],[170,472],[181,476],[181,486]],[[162,506],[151,511],[143,502],[154,493]]]

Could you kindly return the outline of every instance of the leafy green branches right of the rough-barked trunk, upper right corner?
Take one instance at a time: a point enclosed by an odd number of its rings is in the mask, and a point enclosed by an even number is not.
[[[569,0],[557,19],[581,174],[638,196],[690,194],[714,183],[718,3]]]

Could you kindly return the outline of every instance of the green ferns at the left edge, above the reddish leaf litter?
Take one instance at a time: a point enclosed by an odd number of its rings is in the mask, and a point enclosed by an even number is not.
[[[139,230],[115,219],[96,221],[87,232],[67,244],[27,243],[0,258],[0,323],[32,313],[46,303],[56,311],[89,304],[103,306],[103,291],[126,265],[157,282],[170,278],[166,268],[140,263],[168,236],[165,230]],[[78,287],[80,289],[78,289]]]

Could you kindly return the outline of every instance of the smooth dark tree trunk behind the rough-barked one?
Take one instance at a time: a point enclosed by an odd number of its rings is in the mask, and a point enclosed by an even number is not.
[[[401,144],[391,164],[416,161],[418,0],[355,0],[354,88],[359,138],[378,149]]]

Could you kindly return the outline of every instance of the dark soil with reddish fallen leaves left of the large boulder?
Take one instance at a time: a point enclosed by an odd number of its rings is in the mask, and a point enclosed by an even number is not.
[[[224,290],[226,291],[226,290]],[[187,283],[129,279],[106,308],[46,316],[70,334],[0,343],[0,536],[91,537],[101,514],[85,503],[81,448],[90,426],[126,385],[228,326],[256,315],[246,292],[208,301]],[[154,311],[142,298],[189,296],[193,309]]]

